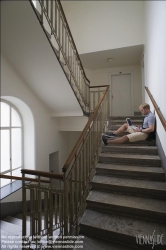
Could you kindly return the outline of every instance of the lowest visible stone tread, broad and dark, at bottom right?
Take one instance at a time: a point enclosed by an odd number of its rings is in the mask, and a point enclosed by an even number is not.
[[[154,230],[158,235],[166,232],[165,224],[116,214],[110,215],[110,213],[102,213],[89,209],[85,211],[81,225],[106,230],[107,232],[110,231],[110,234],[114,232],[134,238],[140,234],[153,234]],[[166,244],[166,237],[163,237],[162,243]]]

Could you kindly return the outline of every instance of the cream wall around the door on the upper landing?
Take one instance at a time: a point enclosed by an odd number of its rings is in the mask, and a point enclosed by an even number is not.
[[[134,111],[139,111],[139,105],[142,103],[142,79],[141,79],[141,66],[140,65],[131,65],[107,69],[97,69],[97,70],[87,70],[85,71],[88,75],[89,80],[91,81],[91,86],[95,85],[109,85],[109,75],[110,73],[118,72],[132,72],[133,73],[133,100],[134,100]]]

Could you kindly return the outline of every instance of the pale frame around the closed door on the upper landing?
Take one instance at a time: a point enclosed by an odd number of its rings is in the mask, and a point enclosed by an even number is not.
[[[134,83],[133,83],[133,71],[124,71],[124,72],[111,72],[109,73],[109,85],[110,85],[110,115],[112,115],[112,76],[119,75],[130,75],[131,76],[131,114],[134,115]]]

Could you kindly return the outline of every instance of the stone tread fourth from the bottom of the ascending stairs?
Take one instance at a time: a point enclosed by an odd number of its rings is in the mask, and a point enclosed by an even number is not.
[[[134,165],[118,165],[118,164],[104,164],[98,163],[96,168],[107,169],[107,170],[121,170],[121,171],[132,171],[132,172],[145,172],[145,173],[163,173],[164,170],[159,167],[142,167]]]

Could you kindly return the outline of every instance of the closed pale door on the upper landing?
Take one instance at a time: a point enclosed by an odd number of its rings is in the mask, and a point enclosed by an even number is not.
[[[111,115],[132,115],[131,74],[111,76]]]

